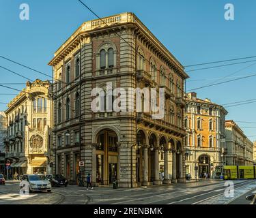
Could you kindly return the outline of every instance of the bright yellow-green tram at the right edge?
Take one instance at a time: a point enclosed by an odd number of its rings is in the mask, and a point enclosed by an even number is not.
[[[219,177],[224,179],[256,178],[255,166],[218,166],[218,170]]]

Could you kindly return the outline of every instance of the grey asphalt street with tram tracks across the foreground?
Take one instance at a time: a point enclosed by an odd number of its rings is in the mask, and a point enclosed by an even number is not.
[[[70,185],[53,188],[51,193],[20,196],[19,183],[8,181],[0,186],[0,204],[250,204],[245,196],[256,190],[255,180],[233,181],[233,189],[225,182],[206,180],[135,189],[95,187],[89,191]]]

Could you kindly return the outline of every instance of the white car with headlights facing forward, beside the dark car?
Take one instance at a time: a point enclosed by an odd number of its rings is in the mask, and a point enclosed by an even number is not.
[[[29,192],[33,191],[47,191],[51,192],[52,185],[46,178],[41,174],[25,174],[22,177],[22,181],[29,182]]]

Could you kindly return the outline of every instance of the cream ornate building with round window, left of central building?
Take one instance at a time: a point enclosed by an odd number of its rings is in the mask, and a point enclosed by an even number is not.
[[[51,83],[35,80],[8,104],[6,161],[9,174],[51,173]]]

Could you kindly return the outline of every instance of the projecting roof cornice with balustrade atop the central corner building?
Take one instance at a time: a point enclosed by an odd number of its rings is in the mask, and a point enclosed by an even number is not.
[[[106,22],[106,24],[104,22]],[[66,55],[78,46],[81,42],[81,37],[84,39],[87,35],[92,35],[104,30],[113,31],[114,28],[124,27],[126,25],[135,25],[137,27],[137,34],[143,34],[147,37],[147,40],[150,40],[152,46],[155,49],[159,50],[160,55],[164,59],[170,62],[173,67],[177,69],[177,72],[182,75],[184,78],[188,78],[188,74],[184,72],[184,66],[175,59],[175,57],[169,52],[169,50],[154,36],[154,34],[145,27],[143,22],[137,18],[133,13],[126,12],[122,14],[116,14],[113,16],[108,16],[102,19],[89,20],[84,22],[81,27],[76,29],[76,31],[64,42],[55,52],[55,57],[48,63],[48,65],[57,65],[62,61]]]

